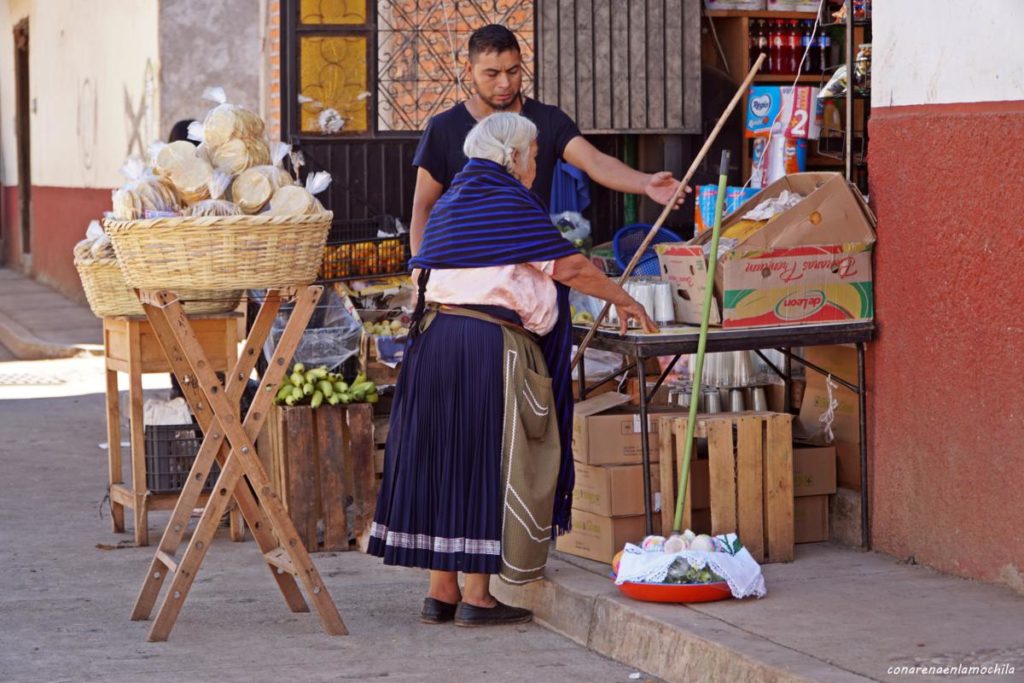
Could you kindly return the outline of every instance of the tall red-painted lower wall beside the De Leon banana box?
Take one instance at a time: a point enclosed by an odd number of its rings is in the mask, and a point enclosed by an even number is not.
[[[1024,102],[873,109],[872,540],[1024,591]]]

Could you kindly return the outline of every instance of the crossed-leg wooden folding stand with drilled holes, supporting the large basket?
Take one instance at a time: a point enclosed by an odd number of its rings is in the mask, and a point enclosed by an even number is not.
[[[167,640],[170,635],[224,510],[232,499],[252,529],[289,608],[296,612],[309,611],[299,591],[298,579],[316,607],[324,630],[332,635],[348,633],[278,493],[270,485],[254,445],[269,413],[275,388],[284,378],[323,292],[324,288],[317,286],[268,291],[245,348],[233,370],[227,374],[226,386],[217,380],[177,298],[165,291],[138,292],[146,317],[204,434],[188,481],[167,523],[132,611],[133,621],[148,618],[164,579],[169,574],[173,577],[150,630],[151,641]],[[239,415],[243,389],[283,301],[292,298],[295,308],[243,422]],[[184,554],[179,557],[177,550],[215,458],[220,463],[220,476]]]

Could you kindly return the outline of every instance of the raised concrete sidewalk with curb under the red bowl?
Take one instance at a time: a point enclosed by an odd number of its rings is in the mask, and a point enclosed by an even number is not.
[[[589,648],[669,681],[889,681],[891,667],[1011,667],[1024,680],[1024,597],[830,544],[764,567],[767,597],[694,605],[636,602],[606,564],[558,554],[503,600]],[[948,680],[914,675],[912,680]]]

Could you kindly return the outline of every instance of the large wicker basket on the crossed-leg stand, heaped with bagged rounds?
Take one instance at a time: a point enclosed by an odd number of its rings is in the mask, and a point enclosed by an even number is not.
[[[109,220],[118,261],[138,289],[270,289],[316,280],[330,211],[303,216]]]

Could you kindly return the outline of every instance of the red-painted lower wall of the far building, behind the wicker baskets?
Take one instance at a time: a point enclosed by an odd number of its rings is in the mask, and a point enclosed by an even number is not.
[[[89,221],[111,209],[110,189],[32,187],[32,273],[61,294],[85,302],[72,250]]]

